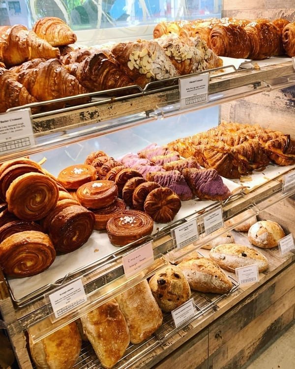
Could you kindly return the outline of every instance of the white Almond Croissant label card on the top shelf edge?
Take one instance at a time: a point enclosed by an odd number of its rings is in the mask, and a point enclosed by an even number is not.
[[[179,79],[180,108],[208,102],[209,73]]]

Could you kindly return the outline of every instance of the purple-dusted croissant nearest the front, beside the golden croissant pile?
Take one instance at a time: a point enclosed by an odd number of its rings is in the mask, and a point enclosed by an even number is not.
[[[182,174],[200,199],[223,201],[232,194],[215,169],[187,168]]]

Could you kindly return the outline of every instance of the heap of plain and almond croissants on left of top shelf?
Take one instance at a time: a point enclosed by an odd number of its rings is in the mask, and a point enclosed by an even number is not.
[[[0,26],[0,112],[37,101],[147,83],[221,66],[199,37],[177,35],[74,49],[75,33],[61,19],[46,17],[29,31]],[[84,98],[68,100],[76,105]],[[56,102],[47,109],[63,107]],[[46,109],[46,108],[43,108]],[[33,112],[38,110],[34,107]]]

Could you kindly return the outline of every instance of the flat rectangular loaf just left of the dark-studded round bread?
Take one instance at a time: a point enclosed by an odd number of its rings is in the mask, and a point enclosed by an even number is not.
[[[163,315],[145,279],[116,297],[130,331],[130,342],[140,343],[162,324]]]

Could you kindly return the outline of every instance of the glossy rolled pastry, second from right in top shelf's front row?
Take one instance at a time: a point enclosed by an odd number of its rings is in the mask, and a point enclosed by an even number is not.
[[[249,58],[262,60],[275,55],[281,42],[280,30],[270,22],[251,22],[244,30],[250,42]]]

